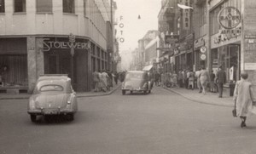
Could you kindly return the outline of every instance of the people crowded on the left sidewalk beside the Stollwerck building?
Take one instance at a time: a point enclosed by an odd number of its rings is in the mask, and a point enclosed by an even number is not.
[[[92,81],[94,92],[107,92],[113,87],[113,82],[118,84],[118,80],[123,82],[125,72],[112,72],[112,71],[94,71],[92,73]]]

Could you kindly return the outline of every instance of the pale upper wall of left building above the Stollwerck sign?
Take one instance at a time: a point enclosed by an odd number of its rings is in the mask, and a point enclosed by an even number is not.
[[[52,13],[37,13],[36,1],[26,0],[26,13],[14,13],[14,1],[5,1],[5,13],[0,14],[0,35],[69,35],[90,37],[107,49],[106,23],[101,15],[92,15],[93,7],[84,16],[84,0],[75,1],[75,14],[62,11],[62,1],[52,2]],[[89,1],[87,5],[89,6]]]

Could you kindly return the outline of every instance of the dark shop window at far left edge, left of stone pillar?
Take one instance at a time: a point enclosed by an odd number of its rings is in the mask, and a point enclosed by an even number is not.
[[[0,93],[27,93],[26,37],[0,38]]]

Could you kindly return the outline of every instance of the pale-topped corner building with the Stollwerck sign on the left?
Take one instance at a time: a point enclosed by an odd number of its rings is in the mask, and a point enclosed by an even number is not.
[[[91,72],[109,67],[108,39],[113,37],[107,34],[113,27],[108,0],[0,4],[0,66],[8,68],[2,71],[2,91],[32,91],[41,74],[68,74],[73,88],[88,91]]]

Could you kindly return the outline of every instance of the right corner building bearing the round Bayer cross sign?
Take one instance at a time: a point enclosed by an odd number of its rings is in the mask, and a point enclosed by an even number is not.
[[[256,15],[253,11],[256,1],[209,0],[208,4],[211,40],[207,59],[209,69],[223,66],[228,83],[239,80],[241,71],[245,70],[249,72],[249,80],[255,84]],[[228,18],[230,14],[231,18]]]

